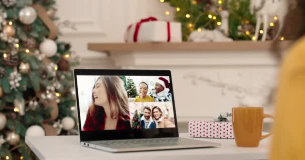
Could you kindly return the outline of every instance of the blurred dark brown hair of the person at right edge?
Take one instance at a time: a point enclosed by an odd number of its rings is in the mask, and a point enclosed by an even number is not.
[[[294,42],[305,35],[305,0],[288,0],[288,2],[290,5],[280,35]],[[277,39],[274,40],[272,46],[272,53],[278,59],[282,57],[281,44]]]

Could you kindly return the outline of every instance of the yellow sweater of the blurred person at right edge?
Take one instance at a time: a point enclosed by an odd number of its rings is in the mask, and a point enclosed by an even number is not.
[[[271,160],[305,159],[305,37],[283,60],[275,98]]]

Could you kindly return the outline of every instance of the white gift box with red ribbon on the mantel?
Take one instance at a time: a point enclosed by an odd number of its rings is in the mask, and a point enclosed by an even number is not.
[[[181,42],[181,23],[160,21],[155,17],[130,24],[125,33],[126,42]]]

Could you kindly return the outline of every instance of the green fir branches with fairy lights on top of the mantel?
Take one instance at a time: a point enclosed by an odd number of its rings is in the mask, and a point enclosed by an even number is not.
[[[183,40],[192,31],[219,29],[233,40],[259,39],[254,37],[256,18],[250,13],[250,0],[160,0],[176,8],[175,20],[182,24]],[[169,11],[166,11],[169,14]],[[224,17],[226,16],[226,17]],[[223,19],[226,24],[223,24]],[[277,19],[274,17],[274,19]],[[273,24],[273,23],[272,23]],[[275,29],[274,25],[270,28]],[[266,30],[269,32],[269,30]],[[270,38],[270,37],[269,37]]]

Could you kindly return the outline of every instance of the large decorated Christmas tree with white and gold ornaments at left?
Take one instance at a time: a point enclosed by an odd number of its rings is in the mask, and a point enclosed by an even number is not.
[[[75,132],[70,44],[57,41],[55,0],[1,0],[0,156],[33,159],[25,136]]]

